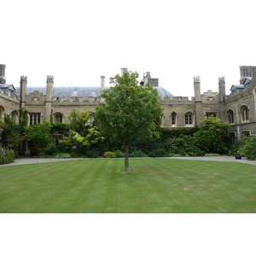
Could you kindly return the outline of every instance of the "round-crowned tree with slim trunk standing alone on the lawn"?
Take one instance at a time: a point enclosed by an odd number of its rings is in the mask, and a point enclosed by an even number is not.
[[[138,73],[125,71],[110,79],[113,87],[102,93],[96,108],[96,124],[102,135],[125,146],[125,171],[129,169],[129,147],[138,140],[159,137],[161,104],[149,83],[138,84]]]

